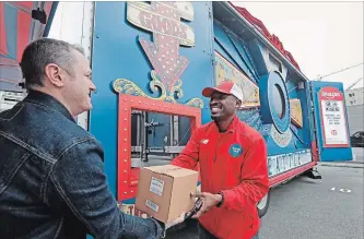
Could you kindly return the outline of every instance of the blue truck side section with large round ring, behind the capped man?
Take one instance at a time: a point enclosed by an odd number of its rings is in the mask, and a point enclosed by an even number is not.
[[[307,82],[246,26],[231,21],[228,12],[222,13],[221,4],[213,5],[215,84],[228,80],[242,85],[246,99],[238,117],[265,136],[270,178],[312,163]]]

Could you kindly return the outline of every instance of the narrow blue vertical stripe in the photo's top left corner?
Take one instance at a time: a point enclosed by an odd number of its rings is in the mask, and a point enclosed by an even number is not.
[[[17,10],[9,4],[3,4],[5,16],[5,33],[8,55],[12,59],[16,59],[17,47]]]

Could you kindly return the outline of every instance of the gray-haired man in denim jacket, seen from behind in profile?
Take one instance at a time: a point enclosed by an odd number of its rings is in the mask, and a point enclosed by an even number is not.
[[[0,113],[0,238],[161,238],[164,225],[122,213],[102,145],[74,121],[96,89],[83,50],[39,39],[24,50],[28,95]]]

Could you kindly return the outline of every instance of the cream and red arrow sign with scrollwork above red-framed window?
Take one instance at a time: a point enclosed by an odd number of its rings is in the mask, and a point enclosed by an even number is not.
[[[138,41],[153,67],[150,89],[153,93],[160,93],[160,96],[156,98],[149,96],[126,79],[114,82],[116,92],[171,103],[177,103],[184,96],[180,75],[189,61],[179,55],[179,46],[195,46],[195,33],[191,27],[181,22],[181,19],[193,21],[193,7],[190,2],[127,3],[129,23],[153,34],[153,41],[142,37],[138,37]],[[203,107],[200,98],[192,98],[186,105]]]

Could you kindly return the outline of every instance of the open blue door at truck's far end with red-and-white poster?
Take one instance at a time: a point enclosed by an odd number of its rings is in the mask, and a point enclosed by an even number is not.
[[[312,81],[309,85],[319,159],[352,160],[343,84]]]

